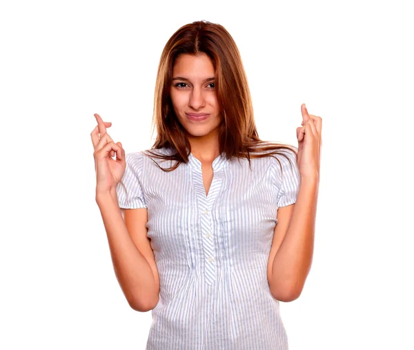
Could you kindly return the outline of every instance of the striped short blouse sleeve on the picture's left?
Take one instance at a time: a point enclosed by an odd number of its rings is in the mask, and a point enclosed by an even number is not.
[[[127,153],[125,160],[125,173],[116,187],[119,208],[147,208],[140,182],[143,154],[140,152]]]

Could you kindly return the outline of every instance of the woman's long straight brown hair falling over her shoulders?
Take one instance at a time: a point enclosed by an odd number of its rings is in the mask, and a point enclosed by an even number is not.
[[[147,152],[151,157],[175,161],[170,168],[160,168],[163,171],[173,171],[182,162],[188,162],[190,143],[170,99],[172,67],[179,55],[197,55],[201,52],[210,57],[215,68],[215,92],[224,120],[219,128],[220,153],[225,153],[227,159],[247,158],[249,164],[250,157],[268,157],[275,154],[286,157],[279,153],[282,148],[293,150],[297,157],[295,147],[264,142],[259,138],[246,72],[233,37],[217,23],[195,21],[182,26],[170,37],[159,60],[152,119],[152,133],[156,128],[157,137],[151,149],[170,148],[172,153],[164,155],[152,150]],[[278,159],[277,161],[279,162]]]

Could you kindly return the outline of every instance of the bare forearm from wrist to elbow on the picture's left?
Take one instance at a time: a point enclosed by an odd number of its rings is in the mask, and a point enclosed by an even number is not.
[[[97,194],[96,201],[105,226],[112,264],[132,309],[147,311],[156,295],[150,265],[133,242],[121,214],[116,193]]]

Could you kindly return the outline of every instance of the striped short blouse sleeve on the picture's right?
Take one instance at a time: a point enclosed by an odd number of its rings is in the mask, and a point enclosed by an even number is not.
[[[282,150],[282,152],[290,159],[290,162],[283,155],[277,155],[283,173],[280,169],[279,162],[276,162],[277,177],[279,179],[279,193],[277,193],[277,207],[288,206],[294,204],[299,193],[300,173],[297,166],[296,154],[293,150]],[[291,164],[291,165],[290,165]]]

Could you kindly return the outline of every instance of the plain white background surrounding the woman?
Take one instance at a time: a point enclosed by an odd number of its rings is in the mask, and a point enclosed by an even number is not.
[[[93,114],[149,148],[161,50],[206,19],[239,47],[262,139],[297,146],[302,103],[323,120],[290,350],[414,349],[408,2],[2,1],[0,348],[145,348],[150,312],[128,306],[95,203]]]

